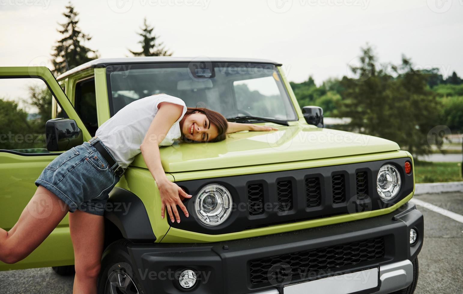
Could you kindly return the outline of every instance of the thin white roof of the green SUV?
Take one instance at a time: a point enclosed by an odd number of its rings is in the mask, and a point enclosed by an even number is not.
[[[281,63],[257,58],[228,58],[228,57],[173,57],[173,56],[150,56],[150,57],[123,57],[123,58],[98,58],[88,61],[84,64],[74,67],[67,72],[61,74],[56,79],[61,80],[73,73],[78,73],[84,69],[92,67],[107,67],[116,64],[140,64],[140,63],[165,63],[165,62],[251,62],[251,63],[267,63],[281,66]]]

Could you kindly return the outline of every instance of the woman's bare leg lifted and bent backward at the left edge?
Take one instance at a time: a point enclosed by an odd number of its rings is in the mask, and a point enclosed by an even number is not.
[[[27,257],[42,244],[68,211],[69,207],[63,200],[38,186],[13,228],[8,232],[0,229],[0,260],[17,263]]]

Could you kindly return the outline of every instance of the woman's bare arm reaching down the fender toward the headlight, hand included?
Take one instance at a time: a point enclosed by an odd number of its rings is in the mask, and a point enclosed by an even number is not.
[[[165,208],[167,207],[167,212],[172,222],[174,222],[174,215],[177,222],[180,222],[177,205],[188,217],[188,210],[181,202],[179,195],[185,198],[191,198],[191,195],[188,195],[183,189],[177,186],[177,184],[170,182],[167,178],[163,165],[161,164],[159,144],[164,140],[172,125],[180,118],[182,110],[183,106],[181,105],[169,102],[160,103],[159,110],[156,116],[154,116],[143,142],[140,145],[144,162],[159,188],[162,202],[161,217],[164,218]],[[174,213],[174,215],[172,213]]]

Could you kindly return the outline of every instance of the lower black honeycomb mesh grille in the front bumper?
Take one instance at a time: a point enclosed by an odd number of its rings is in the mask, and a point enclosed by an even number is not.
[[[342,245],[282,254],[250,261],[250,282],[253,285],[276,285],[303,278],[319,276],[349,266],[378,261],[384,258],[384,238],[367,239]]]

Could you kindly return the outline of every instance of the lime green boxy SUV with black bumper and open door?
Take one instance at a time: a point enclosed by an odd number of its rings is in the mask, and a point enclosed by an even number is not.
[[[161,218],[139,154],[106,206],[99,293],[413,293],[423,215],[408,202],[411,154],[392,141],[325,129],[323,110],[300,109],[281,64],[134,57],[97,59],[57,79],[47,67],[0,67],[0,78],[40,79],[53,95],[44,144],[0,150],[6,230],[51,160],[139,98],[167,93],[230,121],[278,128],[161,147],[166,175],[193,195],[180,223]],[[72,264],[66,217],[30,256],[0,270],[64,273]]]

